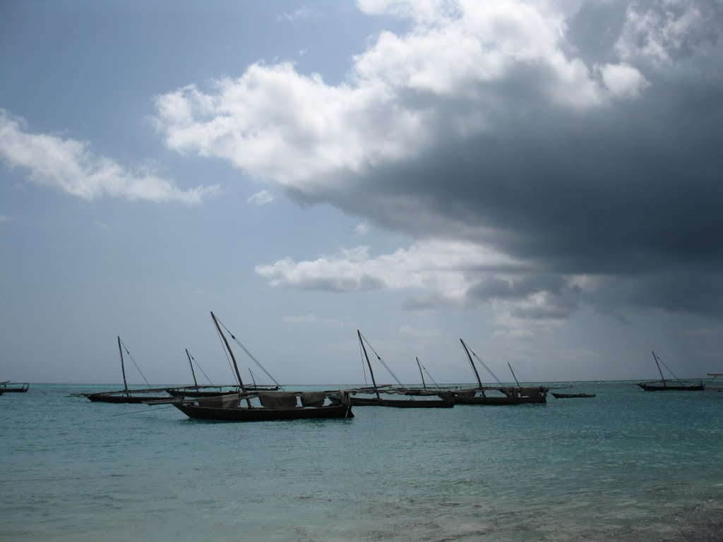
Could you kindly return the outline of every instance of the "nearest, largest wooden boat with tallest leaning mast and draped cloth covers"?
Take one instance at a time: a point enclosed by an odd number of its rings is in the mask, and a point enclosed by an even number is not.
[[[241,378],[236,356],[221,324],[211,312],[211,318],[218,334],[221,335],[226,350],[234,363],[236,377],[239,380],[241,393],[221,395],[218,397],[184,397],[167,400],[189,418],[210,421],[282,421],[307,420],[322,418],[354,418],[351,412],[351,401],[348,393],[341,392],[341,403],[325,404],[325,392],[286,392],[279,390],[255,391],[249,393]],[[232,335],[233,337],[233,335]],[[234,337],[235,339],[235,337]],[[238,341],[237,341],[238,342]],[[246,350],[244,348],[244,350]],[[260,405],[252,405],[252,399]],[[301,405],[297,400],[301,400]],[[245,403],[245,406],[243,405]],[[159,403],[155,403],[159,404]]]

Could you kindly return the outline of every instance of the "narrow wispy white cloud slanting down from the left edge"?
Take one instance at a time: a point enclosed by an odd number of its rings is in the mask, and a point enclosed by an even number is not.
[[[181,190],[151,171],[128,171],[110,158],[94,155],[88,147],[75,139],[27,132],[22,120],[0,109],[0,158],[12,168],[27,169],[36,184],[83,199],[110,196],[188,204],[218,192],[218,185]]]

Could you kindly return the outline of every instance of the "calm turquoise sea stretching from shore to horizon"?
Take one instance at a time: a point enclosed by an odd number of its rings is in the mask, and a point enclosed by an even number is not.
[[[723,539],[723,392],[213,423],[68,397],[99,388],[0,397],[0,539]]]

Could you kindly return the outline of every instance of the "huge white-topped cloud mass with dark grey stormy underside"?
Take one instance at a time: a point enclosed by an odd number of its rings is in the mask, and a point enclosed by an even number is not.
[[[156,99],[169,148],[417,240],[260,275],[409,288],[422,292],[409,306],[487,302],[544,321],[581,304],[723,314],[720,4],[358,6],[410,30],[377,35],[340,85],[259,63]],[[432,265],[419,267],[425,251]],[[484,254],[514,265],[479,264]]]

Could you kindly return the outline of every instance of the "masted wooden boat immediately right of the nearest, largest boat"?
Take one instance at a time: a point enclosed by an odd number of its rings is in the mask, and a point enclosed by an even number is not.
[[[393,371],[385,363],[384,360],[376,353],[369,341],[361,335],[359,330],[356,330],[356,335],[359,337],[359,349],[364,355],[364,359],[367,361],[369,367],[369,376],[372,378],[371,387],[360,387],[352,390],[348,390],[351,393],[351,405],[354,406],[383,406],[393,408],[453,408],[455,400],[452,392],[435,392],[434,394],[410,394],[408,388],[405,387],[401,381],[396,377]],[[372,351],[377,356],[377,360],[387,369],[389,374],[395,379],[398,387],[392,387],[390,385],[377,385],[377,380],[374,377],[374,369],[372,364],[369,362],[369,355],[367,354],[367,348],[364,343],[372,348]],[[419,362],[418,362],[419,363]],[[359,397],[358,394],[370,395],[371,397]],[[390,397],[382,397],[384,395],[404,395],[406,399],[391,399]],[[435,399],[416,399],[414,395],[427,395],[435,397]],[[343,397],[335,392],[328,393],[329,399],[335,404],[341,404]]]

